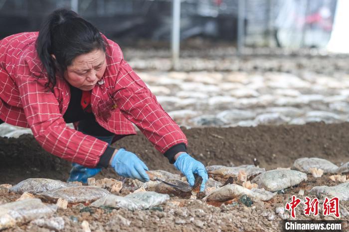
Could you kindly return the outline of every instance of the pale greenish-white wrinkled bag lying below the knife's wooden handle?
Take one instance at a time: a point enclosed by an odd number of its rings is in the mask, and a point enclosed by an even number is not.
[[[146,210],[154,206],[161,205],[170,199],[167,194],[156,192],[137,192],[131,193],[126,197],[116,196],[113,194],[100,198],[91,204],[93,207],[108,206],[112,208],[124,208],[131,211]]]

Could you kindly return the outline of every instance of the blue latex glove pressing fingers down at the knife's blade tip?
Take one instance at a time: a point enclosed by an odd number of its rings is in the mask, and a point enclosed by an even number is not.
[[[198,174],[202,177],[202,183],[200,186],[200,192],[203,192],[205,190],[205,184],[208,180],[208,175],[205,169],[205,166],[187,153],[180,154],[177,159],[174,162],[174,167],[181,171],[188,181],[190,186],[194,185],[194,175]]]

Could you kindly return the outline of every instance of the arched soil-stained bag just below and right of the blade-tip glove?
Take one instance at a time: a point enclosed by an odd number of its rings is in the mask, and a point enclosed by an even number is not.
[[[253,200],[269,201],[276,193],[271,193],[264,189],[249,190],[240,185],[228,184],[208,195],[206,202],[226,202],[242,195],[247,195]]]

